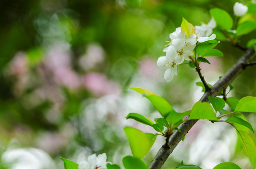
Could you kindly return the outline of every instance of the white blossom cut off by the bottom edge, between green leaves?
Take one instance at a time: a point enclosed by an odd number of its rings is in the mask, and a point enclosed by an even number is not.
[[[88,160],[82,161],[78,169],[106,169],[106,162],[107,160],[107,155],[104,154],[99,154],[96,156],[96,154],[92,154],[88,156]]]

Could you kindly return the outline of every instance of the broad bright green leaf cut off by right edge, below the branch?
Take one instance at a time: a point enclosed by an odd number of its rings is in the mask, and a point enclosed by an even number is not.
[[[235,111],[256,113],[256,97],[247,96],[240,99]]]

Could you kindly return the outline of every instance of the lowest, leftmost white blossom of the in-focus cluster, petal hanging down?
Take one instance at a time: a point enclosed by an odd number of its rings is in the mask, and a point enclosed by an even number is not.
[[[166,82],[170,82],[174,75],[177,75],[178,67],[177,64],[174,61],[170,61],[170,59],[167,56],[161,56],[157,60],[157,65],[162,68],[166,69],[164,72],[164,78]]]

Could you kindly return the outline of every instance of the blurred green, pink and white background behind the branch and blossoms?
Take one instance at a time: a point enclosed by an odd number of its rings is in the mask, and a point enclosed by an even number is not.
[[[126,86],[151,90],[177,112],[191,109],[203,92],[194,69],[180,65],[170,83],[156,65],[169,33],[182,17],[208,23],[209,9],[230,15],[236,0],[1,0],[0,1],[0,169],[64,169],[64,157],[80,163],[106,153],[121,165],[131,154],[123,127],[154,132],[125,120],[130,112],[160,117],[150,102]],[[244,4],[249,0],[239,1]],[[246,17],[255,18],[247,14]],[[233,17],[233,15],[232,15]],[[246,46],[255,32],[241,39]],[[202,74],[214,84],[243,52],[221,39],[224,57],[209,57]],[[232,83],[228,97],[256,96],[256,69]],[[245,114],[256,129],[255,115]],[[256,136],[250,132],[254,141]],[[149,164],[164,138],[158,136]],[[212,169],[231,161],[252,166],[235,129],[199,121],[163,169],[181,164]]]

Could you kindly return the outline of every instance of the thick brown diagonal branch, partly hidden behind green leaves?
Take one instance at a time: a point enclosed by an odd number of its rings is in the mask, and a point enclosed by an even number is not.
[[[229,84],[245,69],[244,64],[251,60],[255,56],[255,50],[250,47],[246,52],[240,57],[240,59],[230,68],[223,77],[221,77],[211,88],[210,91],[206,91],[201,97],[200,101],[208,102],[208,96],[216,97],[221,91],[228,87]],[[186,118],[186,120],[188,117]],[[192,126],[198,120],[188,120],[181,123],[178,129],[181,132],[175,131],[171,137],[166,140],[166,143],[160,148],[154,159],[149,165],[149,169],[160,169],[168,156],[172,153],[174,148],[178,145],[181,139],[186,135],[186,133],[192,128]]]

